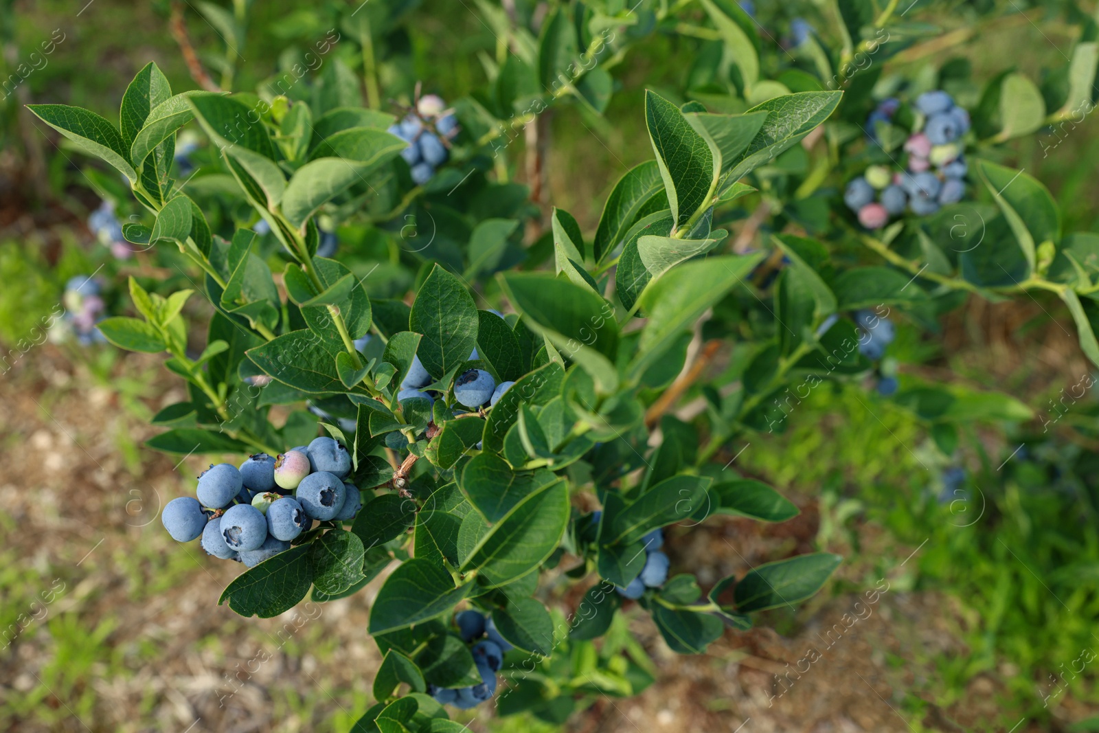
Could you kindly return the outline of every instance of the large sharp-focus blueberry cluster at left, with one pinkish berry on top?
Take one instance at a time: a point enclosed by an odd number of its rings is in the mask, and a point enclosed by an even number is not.
[[[290,548],[313,521],[349,522],[363,508],[359,490],[343,479],[351,454],[331,437],[318,437],[271,458],[248,456],[240,467],[211,465],[199,476],[198,499],[179,497],[160,521],[173,540],[202,537],[202,549],[255,567]]]

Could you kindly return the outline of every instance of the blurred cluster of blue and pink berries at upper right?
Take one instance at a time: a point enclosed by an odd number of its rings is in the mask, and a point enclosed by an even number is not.
[[[900,101],[890,98],[870,112],[866,124],[872,140],[877,140],[877,124],[890,123],[898,109]],[[969,131],[969,113],[942,90],[920,95],[915,110],[912,134],[904,142],[908,170],[890,173],[886,166],[869,166],[844,191],[844,203],[866,229],[885,226],[890,216],[902,214],[906,208],[926,216],[965,196],[968,166],[962,136]],[[931,171],[932,166],[936,173]]]

